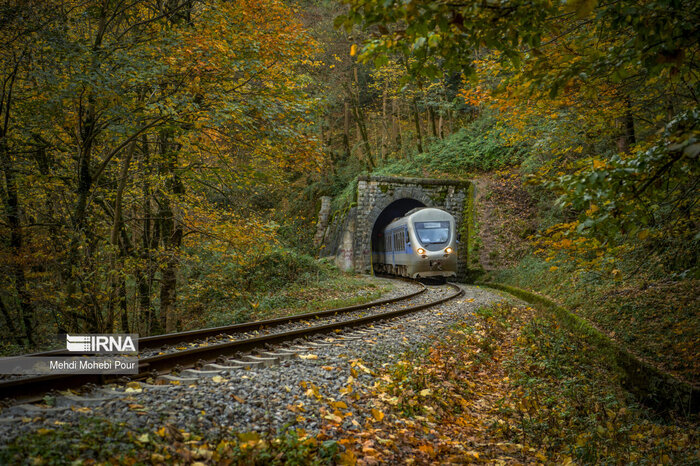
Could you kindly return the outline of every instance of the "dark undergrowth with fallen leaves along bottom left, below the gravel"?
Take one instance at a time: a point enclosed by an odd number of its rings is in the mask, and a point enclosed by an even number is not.
[[[0,464],[332,464],[338,445],[302,431],[280,434],[222,431],[202,437],[171,424],[153,431],[129,430],[105,419],[39,429],[0,450]]]

